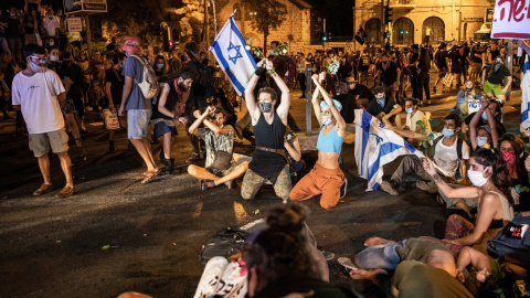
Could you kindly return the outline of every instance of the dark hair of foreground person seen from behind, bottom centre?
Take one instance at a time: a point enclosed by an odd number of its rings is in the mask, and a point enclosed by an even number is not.
[[[257,290],[287,275],[319,278],[311,248],[304,233],[306,207],[288,203],[273,207],[267,214],[268,228],[243,247],[247,268],[255,268]]]

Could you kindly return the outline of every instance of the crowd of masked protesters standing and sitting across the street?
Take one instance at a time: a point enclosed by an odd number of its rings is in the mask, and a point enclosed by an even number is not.
[[[105,52],[94,51],[88,56],[62,39],[64,19],[60,12],[49,9],[41,17],[38,11],[13,8],[9,17],[0,17],[2,113],[9,118],[12,105],[18,110],[17,131],[29,135],[44,180],[34,195],[53,191],[50,149],[60,157],[66,180],[56,196],[74,194],[67,132],[78,157],[86,159],[82,141],[85,113],[115,109],[120,125],[127,128],[129,149],[145,162],[141,183],[172,172],[171,147],[178,127],[183,126],[193,148],[187,159],[188,172],[200,181],[201,190],[218,185],[232,189],[233,181],[243,177],[241,196],[245,200],[271,183],[284,203],[321,194],[320,205],[329,210],[348,187],[342,161],[346,126],[353,123],[356,109],[365,109],[413,146],[432,142],[433,152],[425,159],[403,158],[390,181],[381,184],[382,190],[399,194],[405,189],[405,177],[415,173],[420,177],[417,188],[438,193],[439,203],[462,209],[475,223],[452,215],[445,240],[425,237],[428,235],[401,242],[370,238],[368,248],[356,257],[360,269],[351,267],[351,277],[371,279],[389,295],[402,297],[436,297],[435,291],[451,294],[443,297],[470,297],[486,286],[498,285],[497,279],[485,283],[492,280],[488,278],[502,279],[492,275],[491,266],[508,260],[488,256],[487,241],[515,213],[530,210],[530,158],[522,136],[507,134],[501,121],[501,107],[513,77],[505,65],[506,55],[511,54],[505,46],[449,42],[436,49],[412,44],[369,47],[362,53],[329,50],[289,56],[274,41],[271,55],[256,54],[257,68],[244,94],[247,113],[237,119],[234,106],[241,103],[234,89],[197,43],[187,43],[181,53],[171,50],[152,56],[140,39],[131,35],[124,36],[121,44],[113,39]],[[314,86],[306,86],[307,64],[316,70]],[[434,70],[437,77],[431,85]],[[431,104],[439,83],[442,93],[458,94],[454,108],[444,117],[442,131],[434,132],[430,114],[420,107]],[[296,137],[299,128],[289,113],[290,91],[297,85],[300,97],[306,96],[306,89],[315,89],[311,102],[320,134],[315,168],[293,187],[304,168]],[[469,110],[470,103],[478,109]],[[235,160],[236,137],[255,143],[252,159]],[[109,129],[108,153],[116,151],[115,138],[115,130]],[[159,138],[158,162],[151,143]],[[205,164],[200,167],[203,160]],[[321,278],[317,268],[315,259],[320,255],[316,257],[301,236],[306,216],[296,203],[273,209],[268,228],[245,246],[251,297],[271,297],[267,294],[273,289],[278,297],[305,291],[311,283],[319,294],[316,297],[356,296],[321,280],[329,277]],[[290,253],[296,257],[287,257]],[[506,266],[528,268],[528,264],[510,264]],[[477,274],[477,280],[465,284],[469,277],[464,274],[466,268],[483,277]],[[392,281],[388,280],[389,270],[395,270]],[[290,281],[279,290],[275,285],[286,275]],[[526,272],[516,275],[527,278]],[[528,294],[528,288],[523,291]]]

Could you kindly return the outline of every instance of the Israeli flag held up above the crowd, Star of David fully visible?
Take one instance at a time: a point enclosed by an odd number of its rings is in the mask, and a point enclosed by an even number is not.
[[[256,70],[256,62],[246,51],[245,40],[235,24],[233,14],[215,36],[210,51],[241,96],[245,92],[248,78]]]

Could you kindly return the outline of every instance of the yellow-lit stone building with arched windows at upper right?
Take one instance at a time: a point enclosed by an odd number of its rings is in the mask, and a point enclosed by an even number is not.
[[[407,45],[424,43],[431,29],[431,43],[468,40],[486,21],[495,0],[384,0],[393,8],[390,24],[391,43]],[[354,31],[362,25],[368,41],[381,43],[382,7],[378,0],[358,0],[353,9]]]

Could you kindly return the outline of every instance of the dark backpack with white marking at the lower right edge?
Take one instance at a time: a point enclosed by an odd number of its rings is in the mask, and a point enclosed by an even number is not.
[[[495,237],[488,241],[488,254],[495,258],[510,256],[530,266],[530,212],[518,213]]]

